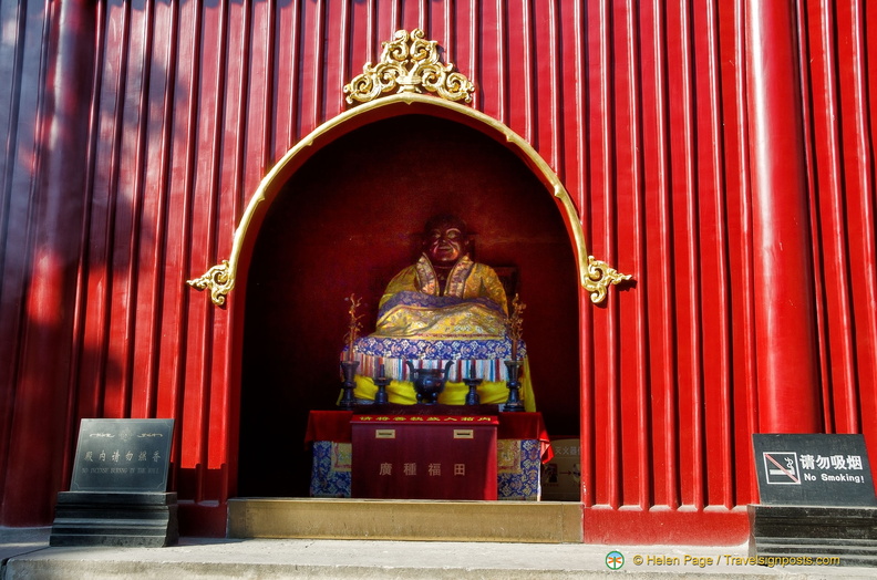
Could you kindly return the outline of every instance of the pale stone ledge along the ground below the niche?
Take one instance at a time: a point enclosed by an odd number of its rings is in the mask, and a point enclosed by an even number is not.
[[[595,546],[183,537],[179,545],[165,548],[53,548],[49,547],[49,534],[50,528],[0,528],[0,579],[874,578],[874,568],[741,563],[739,559],[747,553],[746,545]],[[615,550],[623,557],[618,570],[607,566],[607,556]]]

